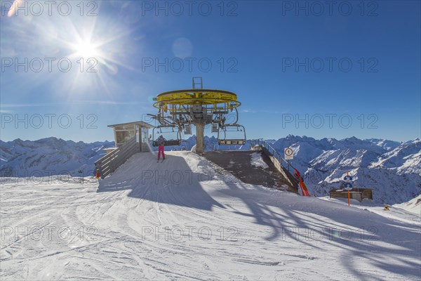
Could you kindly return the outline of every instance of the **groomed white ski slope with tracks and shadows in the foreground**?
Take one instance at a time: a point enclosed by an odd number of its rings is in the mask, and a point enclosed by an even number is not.
[[[403,209],[405,220],[248,185],[192,152],[138,153],[80,180],[2,179],[1,280],[421,275],[420,215]]]

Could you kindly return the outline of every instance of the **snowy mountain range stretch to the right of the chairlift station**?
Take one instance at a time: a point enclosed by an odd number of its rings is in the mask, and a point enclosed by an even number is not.
[[[372,188],[374,201],[406,202],[421,193],[421,140],[395,141],[358,138],[314,138],[287,136],[272,143],[278,152],[290,146],[292,161],[305,175],[313,195],[324,196],[343,185],[349,172],[354,188]]]

